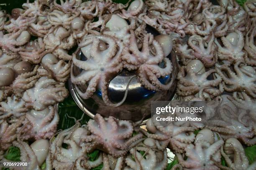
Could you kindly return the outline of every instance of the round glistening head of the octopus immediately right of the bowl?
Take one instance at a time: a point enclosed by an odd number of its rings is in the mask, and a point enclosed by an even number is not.
[[[205,66],[200,60],[191,60],[186,66],[186,71],[201,75],[205,73]]]

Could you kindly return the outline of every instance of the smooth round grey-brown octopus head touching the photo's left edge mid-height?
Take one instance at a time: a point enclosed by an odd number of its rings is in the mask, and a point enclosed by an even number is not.
[[[0,69],[0,86],[8,86],[12,84],[15,79],[15,72],[13,69],[4,67]]]

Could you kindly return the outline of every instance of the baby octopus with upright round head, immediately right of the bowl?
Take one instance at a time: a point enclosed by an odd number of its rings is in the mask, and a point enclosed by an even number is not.
[[[215,73],[216,79],[207,80],[207,77],[214,72],[216,72],[215,69],[205,71],[205,66],[200,60],[192,60],[187,66],[182,66],[178,73],[177,94],[195,95],[203,90],[202,93],[207,93],[210,96],[219,95],[221,92],[215,87],[220,84],[221,77]]]

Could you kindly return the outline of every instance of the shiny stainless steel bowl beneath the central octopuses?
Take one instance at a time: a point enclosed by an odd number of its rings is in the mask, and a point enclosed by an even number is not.
[[[150,28],[148,32],[152,32],[152,28]],[[155,35],[158,35],[155,30],[153,30],[153,32]],[[86,60],[86,58],[84,59],[84,55],[82,55],[81,51],[78,52],[77,57],[80,57],[80,60]],[[171,100],[174,96],[177,84],[176,77],[178,72],[178,63],[174,51],[172,51],[168,57],[172,61],[173,65],[172,75],[159,79],[162,83],[172,81],[172,87],[167,91],[156,92],[147,90],[141,85],[138,77],[136,77],[133,78],[129,84],[128,95],[125,102],[118,107],[109,107],[103,102],[100,90],[97,90],[94,95],[87,100],[84,100],[79,96],[76,90],[78,87],[73,85],[71,80],[69,80],[69,90],[77,105],[92,118],[96,113],[99,113],[105,117],[113,116],[122,120],[138,121],[142,118],[146,120],[151,115],[152,101]],[[73,64],[71,69],[73,69],[74,75],[80,72],[80,70]],[[134,75],[136,75],[135,72],[124,69],[119,75],[110,81],[108,96],[112,102],[119,102],[123,99],[128,81]],[[79,87],[80,90],[86,88],[87,87]]]

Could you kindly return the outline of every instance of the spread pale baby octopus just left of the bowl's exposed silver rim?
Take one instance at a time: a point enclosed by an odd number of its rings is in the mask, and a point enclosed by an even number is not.
[[[26,107],[35,110],[44,110],[49,105],[61,102],[68,96],[68,90],[61,82],[41,77],[31,89],[23,94]]]

